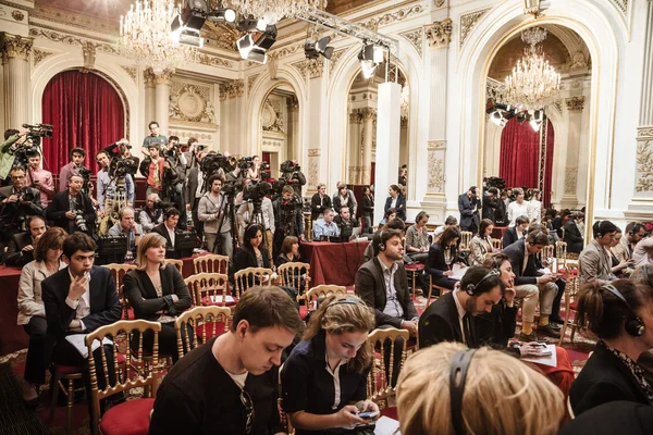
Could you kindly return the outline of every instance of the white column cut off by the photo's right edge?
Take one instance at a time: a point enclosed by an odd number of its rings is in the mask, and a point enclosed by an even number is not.
[[[629,221],[653,219],[653,2],[646,2],[644,62],[640,92],[639,126],[632,199],[624,215]]]

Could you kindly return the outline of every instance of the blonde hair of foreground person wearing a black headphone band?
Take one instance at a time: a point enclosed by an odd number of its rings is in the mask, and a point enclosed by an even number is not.
[[[397,385],[403,435],[454,434],[454,415],[468,434],[557,433],[563,393],[518,359],[486,347],[471,356],[460,406],[452,410],[452,364],[465,350],[461,344],[441,343],[408,358]]]

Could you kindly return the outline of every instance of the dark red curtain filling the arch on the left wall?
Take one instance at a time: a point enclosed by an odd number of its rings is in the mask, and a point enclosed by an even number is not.
[[[47,169],[59,173],[70,150],[83,148],[84,165],[97,173],[95,154],[124,137],[124,119],[122,100],[104,78],[81,71],[56,75],[42,98],[42,122],[53,126],[52,138],[42,142]]]

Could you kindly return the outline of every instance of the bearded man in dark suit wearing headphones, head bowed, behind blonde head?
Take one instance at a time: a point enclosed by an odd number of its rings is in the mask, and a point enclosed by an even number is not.
[[[422,313],[419,320],[420,349],[441,341],[479,347],[475,318],[483,311],[492,312],[501,297],[498,272],[472,265],[463,276],[460,288],[440,297]]]

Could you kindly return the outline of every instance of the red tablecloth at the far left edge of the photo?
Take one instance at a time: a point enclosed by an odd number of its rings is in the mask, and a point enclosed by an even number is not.
[[[21,270],[0,265],[0,356],[27,347],[29,336],[16,325]]]

